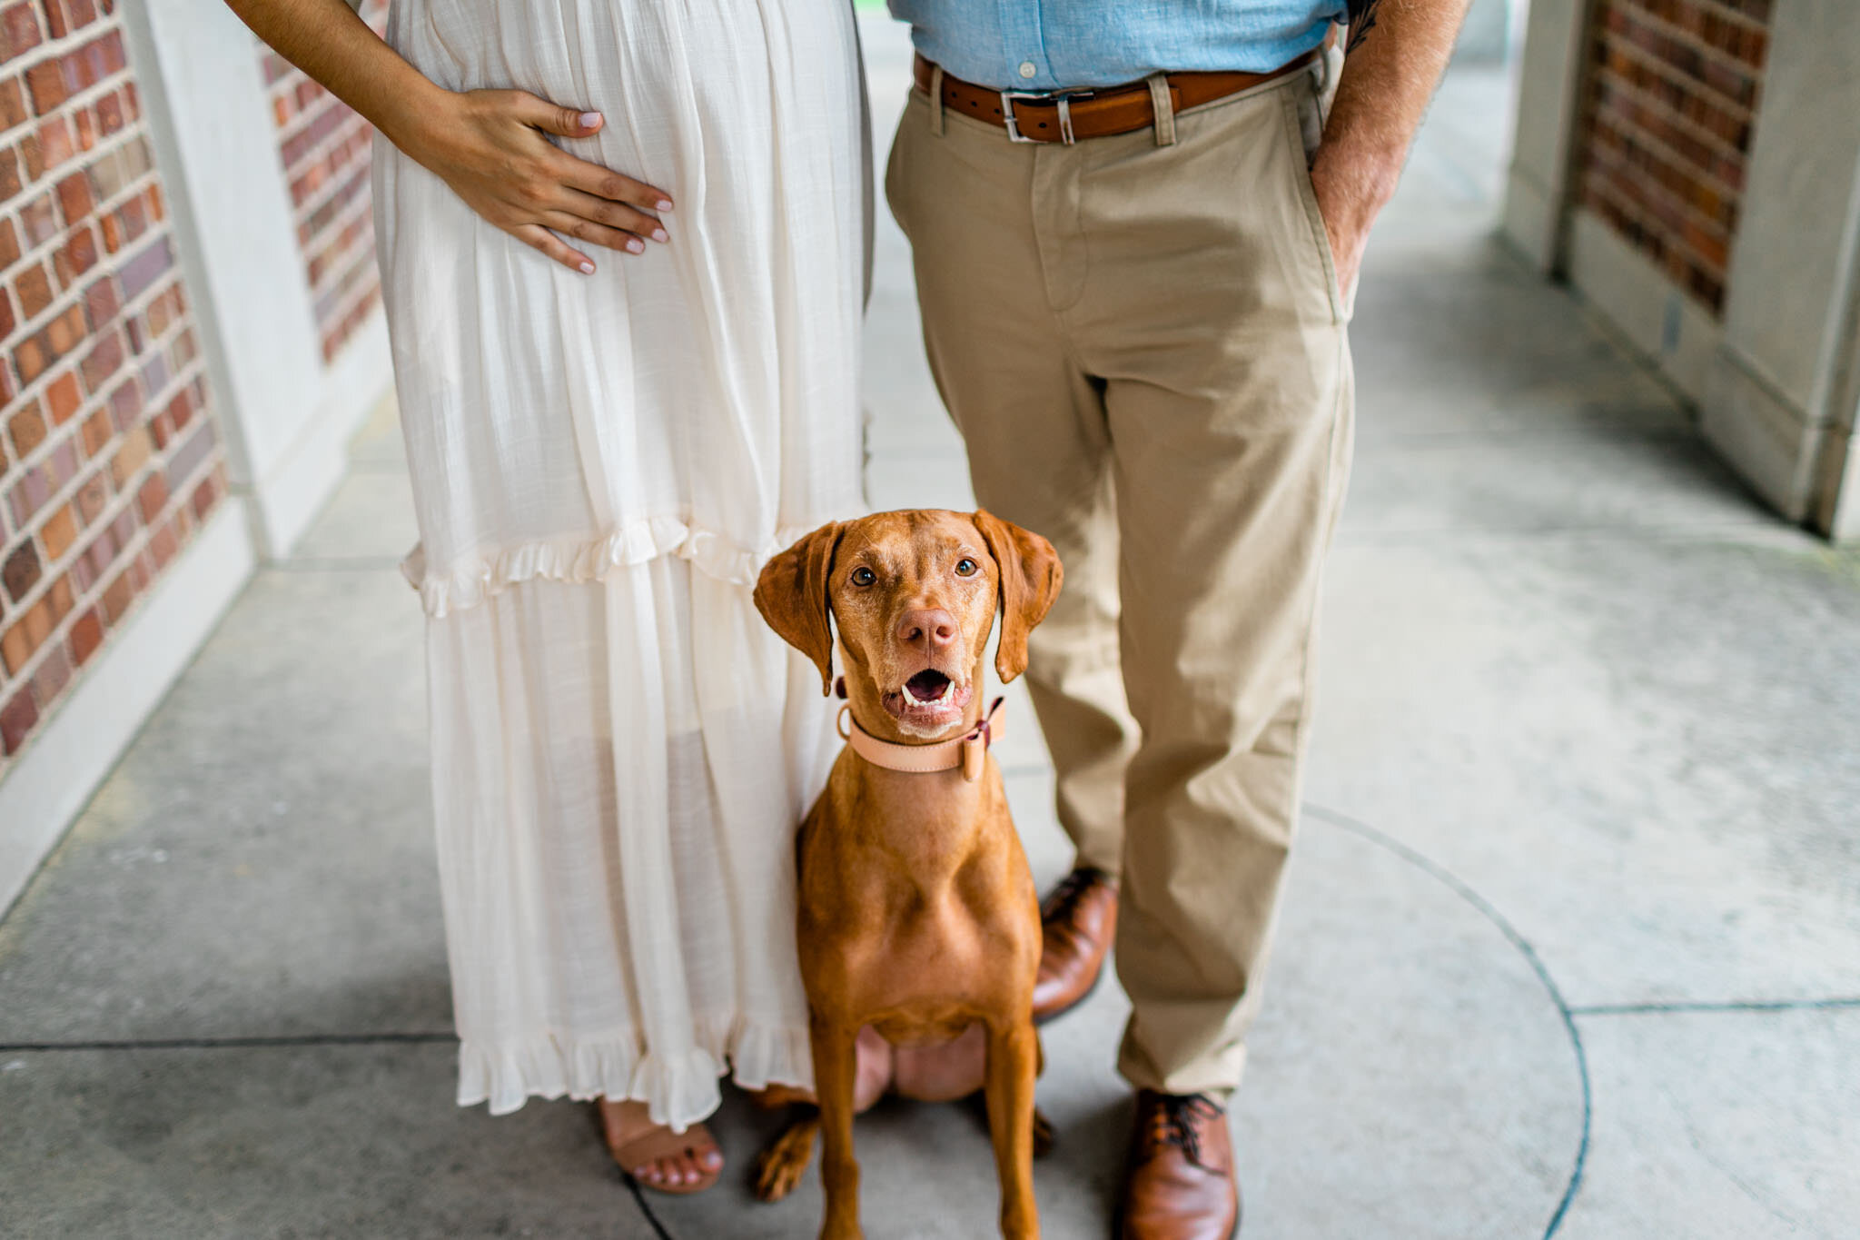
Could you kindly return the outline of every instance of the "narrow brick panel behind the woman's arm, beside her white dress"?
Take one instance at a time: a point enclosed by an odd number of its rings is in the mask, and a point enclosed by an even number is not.
[[[387,0],[363,0],[361,15],[378,32]],[[342,100],[259,48],[272,91],[279,152],[290,182],[298,245],[316,305],[324,361],[333,359],[381,299],[368,214],[368,151],[374,128]]]

